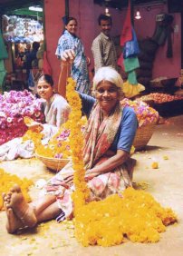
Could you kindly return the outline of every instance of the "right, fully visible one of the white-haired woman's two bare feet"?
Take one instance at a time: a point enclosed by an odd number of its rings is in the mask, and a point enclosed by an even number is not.
[[[7,193],[6,208],[12,209],[18,219],[24,223],[24,226],[34,227],[37,219],[34,214],[34,209],[24,200],[24,195],[18,185]]]

